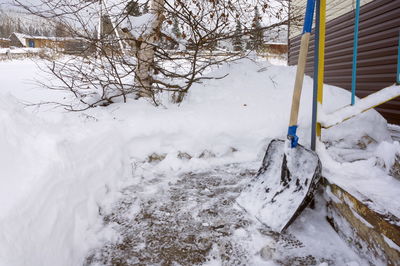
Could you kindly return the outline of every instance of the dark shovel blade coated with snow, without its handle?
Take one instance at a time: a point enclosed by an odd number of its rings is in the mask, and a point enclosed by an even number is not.
[[[258,174],[236,199],[260,222],[276,232],[284,231],[313,198],[321,177],[315,152],[301,145],[287,148],[274,139],[268,146]]]

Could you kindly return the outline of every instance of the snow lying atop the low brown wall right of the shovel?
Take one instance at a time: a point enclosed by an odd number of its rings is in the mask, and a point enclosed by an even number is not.
[[[331,155],[337,155],[338,152],[327,150],[320,145],[318,155],[323,165],[322,175],[372,210],[399,217],[400,205],[394,202],[393,198],[396,198],[400,191],[400,182],[389,173],[389,163],[399,154],[399,150],[396,149],[398,145],[398,142],[389,144],[385,141],[371,145],[371,153],[367,154],[366,158],[352,162],[335,161]],[[386,164],[385,159],[388,161]]]

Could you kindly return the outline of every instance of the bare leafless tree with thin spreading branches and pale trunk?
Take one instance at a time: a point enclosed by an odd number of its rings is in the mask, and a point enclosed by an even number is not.
[[[16,0],[33,14],[58,20],[73,37],[66,47],[79,46],[78,54],[48,68],[58,82],[47,86],[79,100],[64,105],[69,110],[140,97],[159,105],[162,93],[179,103],[194,83],[221,78],[206,75],[210,68],[244,56],[219,44],[254,35],[257,8],[264,19],[257,30],[287,24],[287,0],[149,0],[150,6],[144,0],[39,1]]]

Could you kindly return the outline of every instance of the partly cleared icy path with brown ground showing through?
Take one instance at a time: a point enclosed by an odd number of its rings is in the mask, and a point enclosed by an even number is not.
[[[321,208],[307,210],[285,235],[265,231],[238,208],[254,166],[176,177],[140,169],[137,184],[103,216],[119,239],[93,251],[86,265],[364,265]]]

